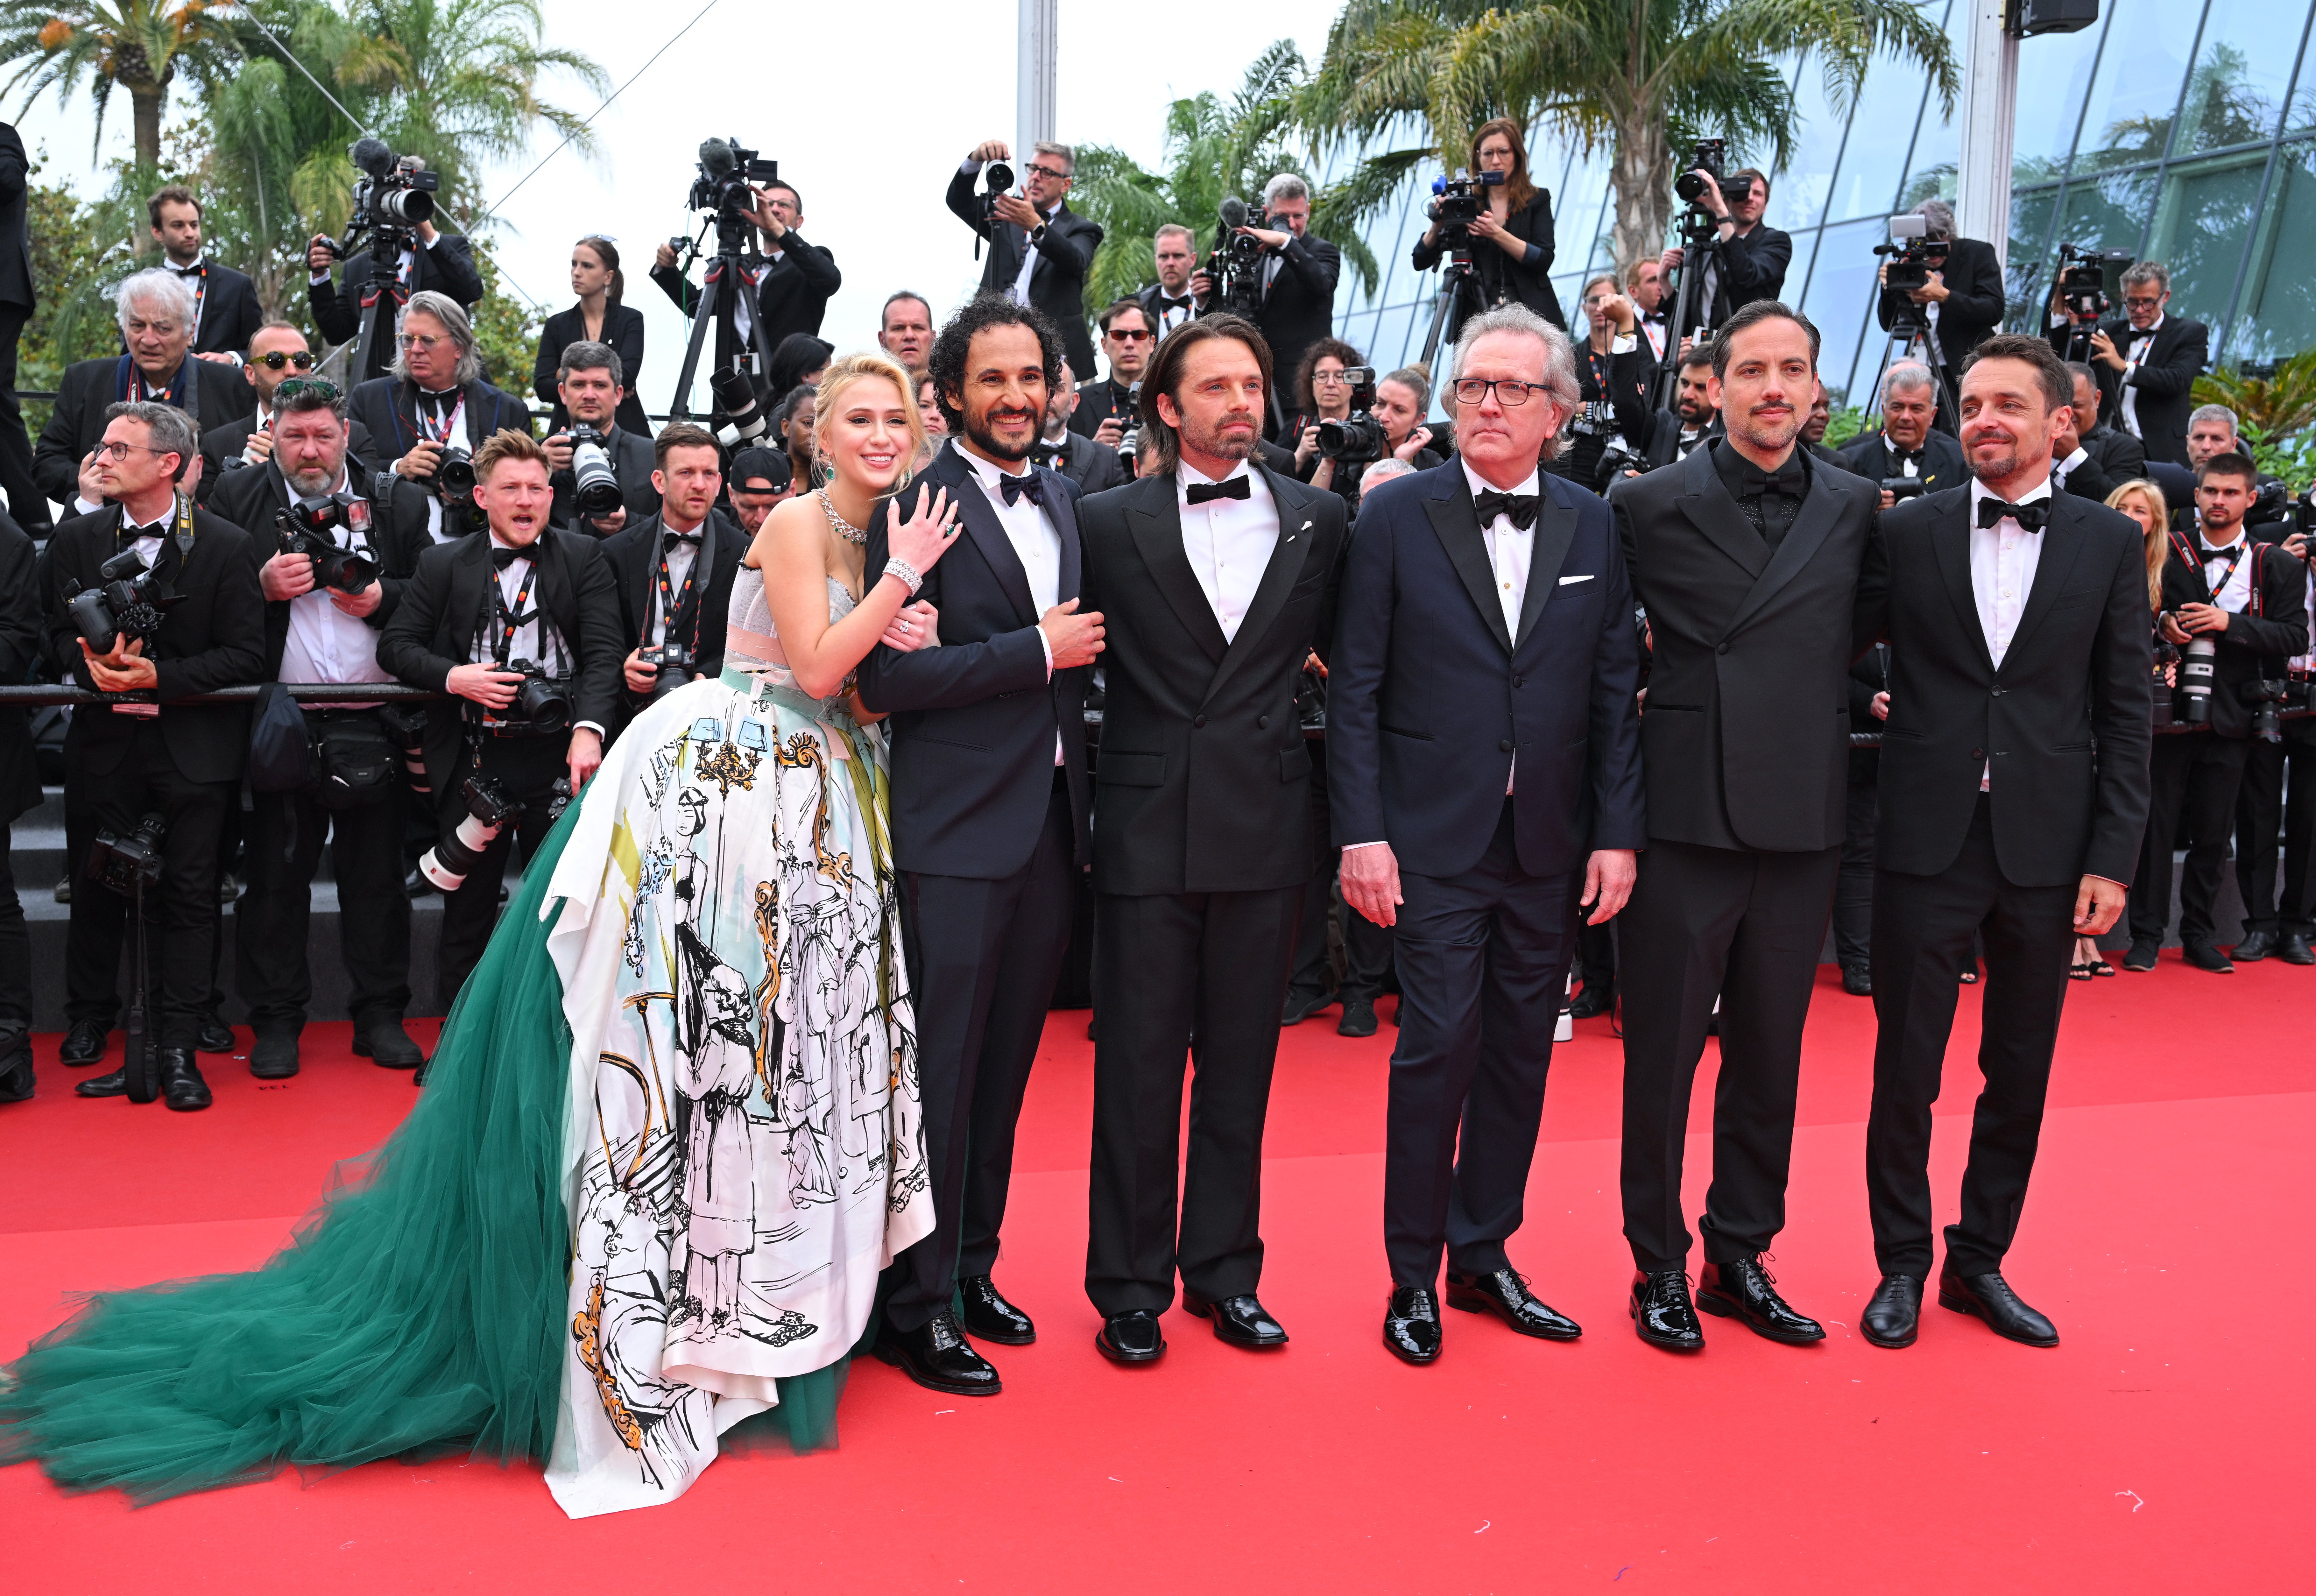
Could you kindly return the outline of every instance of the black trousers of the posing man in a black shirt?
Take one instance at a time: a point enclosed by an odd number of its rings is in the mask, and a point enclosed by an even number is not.
[[[1681,1151],[1705,1026],[1721,1001],[1705,1255],[1758,1253],[1786,1228],[1802,1026],[1841,848],[1758,852],[1651,841],[1624,943],[1624,1235],[1644,1272],[1681,1269]]]

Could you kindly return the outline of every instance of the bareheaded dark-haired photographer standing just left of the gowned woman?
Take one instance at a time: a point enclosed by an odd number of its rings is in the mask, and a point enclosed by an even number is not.
[[[725,621],[732,579],[748,556],[750,535],[716,510],[723,449],[716,433],[669,422],[651,442],[651,486],[658,510],[602,540],[602,558],[618,584],[618,635],[632,644],[621,662],[616,737],[655,697],[699,676],[723,674]],[[734,484],[734,491],[739,486]],[[762,521],[757,521],[762,526]],[[644,651],[676,646],[690,665],[646,660]]]

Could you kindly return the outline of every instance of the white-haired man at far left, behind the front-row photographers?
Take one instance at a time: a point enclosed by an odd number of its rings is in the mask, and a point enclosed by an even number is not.
[[[192,290],[176,273],[153,266],[132,273],[113,294],[127,354],[65,366],[56,410],[32,449],[32,479],[74,514],[100,505],[81,498],[81,466],[107,429],[107,410],[151,401],[192,417],[195,435],[241,415],[248,389],[234,371],[192,354]]]

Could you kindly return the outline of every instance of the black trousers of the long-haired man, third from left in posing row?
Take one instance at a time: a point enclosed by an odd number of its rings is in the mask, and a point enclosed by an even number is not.
[[[1086,1297],[1105,1318],[1163,1313],[1177,1269],[1183,1290],[1209,1302],[1262,1279],[1262,1121],[1302,901],[1302,885],[1095,892]]]

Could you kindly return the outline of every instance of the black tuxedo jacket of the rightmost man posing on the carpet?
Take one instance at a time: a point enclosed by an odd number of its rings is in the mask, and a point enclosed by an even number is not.
[[[1890,720],[1881,727],[1876,869],[1936,876],[1952,866],[1989,762],[1994,857],[2010,885],[2128,883],[2138,866],[2154,737],[2140,528],[2054,493],[2050,526],[2036,535],[2033,586],[1996,669],[1971,591],[1969,486],[1881,517]]]

